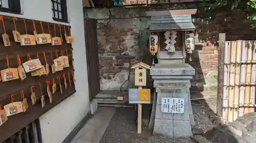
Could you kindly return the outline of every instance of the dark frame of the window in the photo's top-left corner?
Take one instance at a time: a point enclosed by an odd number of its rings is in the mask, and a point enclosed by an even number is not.
[[[1,0],[0,0],[1,1]],[[0,7],[0,12],[7,12],[13,14],[21,14],[20,0],[8,0],[9,8]]]

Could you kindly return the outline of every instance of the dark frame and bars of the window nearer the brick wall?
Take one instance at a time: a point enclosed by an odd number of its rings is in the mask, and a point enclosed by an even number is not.
[[[57,9],[55,9],[54,3],[57,4]],[[58,4],[60,4],[60,9],[58,8]],[[54,21],[58,21],[58,22],[65,22],[68,23],[68,8],[67,8],[67,0],[60,0],[60,2],[58,2],[58,0],[54,1],[51,0],[51,5],[52,5],[52,18]],[[56,18],[55,16],[55,12],[61,13],[61,19],[60,18]],[[59,17],[59,16],[57,16]]]

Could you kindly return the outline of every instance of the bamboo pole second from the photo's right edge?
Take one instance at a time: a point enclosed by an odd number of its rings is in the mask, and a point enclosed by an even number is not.
[[[247,63],[251,63],[252,60],[252,44],[251,42],[246,43],[247,45]],[[245,83],[251,82],[251,64],[246,65],[246,77],[245,77]],[[245,97],[244,97],[245,104],[250,104],[250,86],[245,86]],[[249,112],[249,108],[244,108],[244,114]]]

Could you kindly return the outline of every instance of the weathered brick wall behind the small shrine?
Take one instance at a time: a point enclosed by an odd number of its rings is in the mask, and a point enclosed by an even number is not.
[[[87,17],[98,21],[101,90],[127,90],[134,84],[129,67],[141,60],[151,64],[151,56],[147,52],[150,18],[145,17],[145,12],[166,10],[168,7],[87,10]],[[199,12],[193,18],[197,27],[196,51],[189,64],[196,69],[197,74],[192,81],[191,90],[217,90],[219,33],[226,33],[227,40],[256,39],[256,35],[253,35],[256,31],[250,28],[250,23],[244,22],[244,17],[241,12],[220,12],[208,17]],[[152,80],[148,78],[147,87],[150,88]]]

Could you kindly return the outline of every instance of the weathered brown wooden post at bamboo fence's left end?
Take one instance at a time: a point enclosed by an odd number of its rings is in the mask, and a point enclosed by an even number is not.
[[[225,33],[219,34],[219,71],[218,71],[218,97],[217,97],[217,116],[222,118],[222,108],[223,108],[223,73],[224,73],[224,48],[225,48]],[[219,124],[221,120],[217,121]]]

